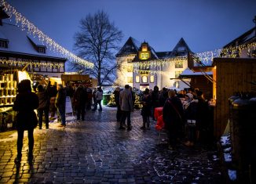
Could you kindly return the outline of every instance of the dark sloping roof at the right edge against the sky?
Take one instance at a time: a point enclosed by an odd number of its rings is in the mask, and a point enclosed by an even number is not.
[[[228,48],[228,47],[235,47],[238,45],[243,45],[250,43],[252,41],[256,41],[256,34],[255,34],[255,27],[252,28],[251,30],[247,31],[246,33],[242,34],[240,37],[234,39],[233,41],[229,42],[227,45],[225,45],[223,48]]]

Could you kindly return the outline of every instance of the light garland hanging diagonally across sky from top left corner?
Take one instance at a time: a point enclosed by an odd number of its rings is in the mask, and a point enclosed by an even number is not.
[[[56,51],[56,52],[60,52],[62,56],[67,57],[69,60],[71,60],[72,63],[77,63],[84,67],[90,67],[90,68],[94,66],[93,63],[90,63],[89,61],[86,61],[86,60],[82,60],[78,56],[75,56],[75,54],[73,54],[72,52],[69,52],[67,49],[64,49],[62,46],[57,44],[56,41],[53,41],[52,38],[49,38],[46,34],[40,31],[38,27],[35,27],[33,23],[31,23],[24,16],[18,13],[16,9],[13,8],[13,6],[9,5],[8,2],[5,2],[5,0],[2,0],[1,4],[4,6],[5,13],[7,13],[10,17],[12,16],[15,17],[17,26],[20,25],[23,31],[27,29],[28,34],[33,34],[34,36],[38,36],[39,40],[42,42],[45,42],[50,49],[53,49],[53,51]]]

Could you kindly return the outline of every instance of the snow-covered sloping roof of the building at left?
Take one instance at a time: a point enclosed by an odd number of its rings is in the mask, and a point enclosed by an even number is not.
[[[20,27],[10,23],[3,22],[0,26],[0,39],[8,41],[8,48],[0,47],[0,52],[66,60],[59,52],[53,52],[53,50],[47,48],[42,41],[39,41],[39,38],[27,35],[26,31],[22,31]],[[46,47],[46,53],[38,52],[31,41],[37,46]]]

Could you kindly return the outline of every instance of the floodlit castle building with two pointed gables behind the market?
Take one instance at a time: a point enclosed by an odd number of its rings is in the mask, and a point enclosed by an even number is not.
[[[181,81],[179,75],[188,67],[188,52],[192,52],[183,38],[173,50],[155,52],[146,42],[128,38],[116,54],[116,84],[144,88],[189,88],[189,79]]]

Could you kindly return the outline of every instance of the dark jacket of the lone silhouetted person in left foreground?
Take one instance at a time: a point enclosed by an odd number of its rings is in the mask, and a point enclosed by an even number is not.
[[[18,111],[16,115],[16,128],[28,130],[35,128],[38,119],[34,110],[38,108],[39,100],[35,92],[20,92],[16,95],[13,110]]]

